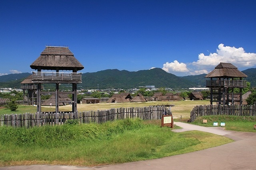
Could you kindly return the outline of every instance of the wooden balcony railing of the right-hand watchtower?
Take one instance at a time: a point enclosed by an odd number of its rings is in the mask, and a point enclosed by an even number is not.
[[[246,80],[207,80],[206,87],[246,87]]]

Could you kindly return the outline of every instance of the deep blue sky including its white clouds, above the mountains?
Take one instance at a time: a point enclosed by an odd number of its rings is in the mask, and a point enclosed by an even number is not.
[[[255,0],[2,0],[0,75],[34,71],[46,45],[68,46],[82,73],[254,68],[255,8]]]

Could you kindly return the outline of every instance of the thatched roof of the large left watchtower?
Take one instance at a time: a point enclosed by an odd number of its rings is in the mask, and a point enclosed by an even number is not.
[[[42,70],[82,70],[84,66],[74,57],[68,47],[46,46],[41,55],[30,65]]]

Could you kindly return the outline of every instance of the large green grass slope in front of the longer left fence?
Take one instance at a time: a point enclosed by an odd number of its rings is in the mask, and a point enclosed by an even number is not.
[[[206,132],[175,133],[140,119],[104,124],[0,127],[0,166],[98,166],[162,158],[232,142]]]

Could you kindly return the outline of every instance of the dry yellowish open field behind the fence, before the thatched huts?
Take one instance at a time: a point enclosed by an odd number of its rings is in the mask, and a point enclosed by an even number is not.
[[[148,107],[148,106],[156,106],[156,105],[174,105],[171,107],[172,115],[174,117],[180,118],[189,118],[190,111],[196,105],[210,105],[210,101],[150,101],[150,102],[139,102],[139,103],[96,103],[96,104],[78,104],[78,111],[97,111],[97,110],[106,110],[112,108],[120,108],[120,107]],[[47,111],[49,109],[55,109],[55,107],[44,106],[42,107],[42,111]],[[60,106],[60,111],[72,111],[71,105]]]

